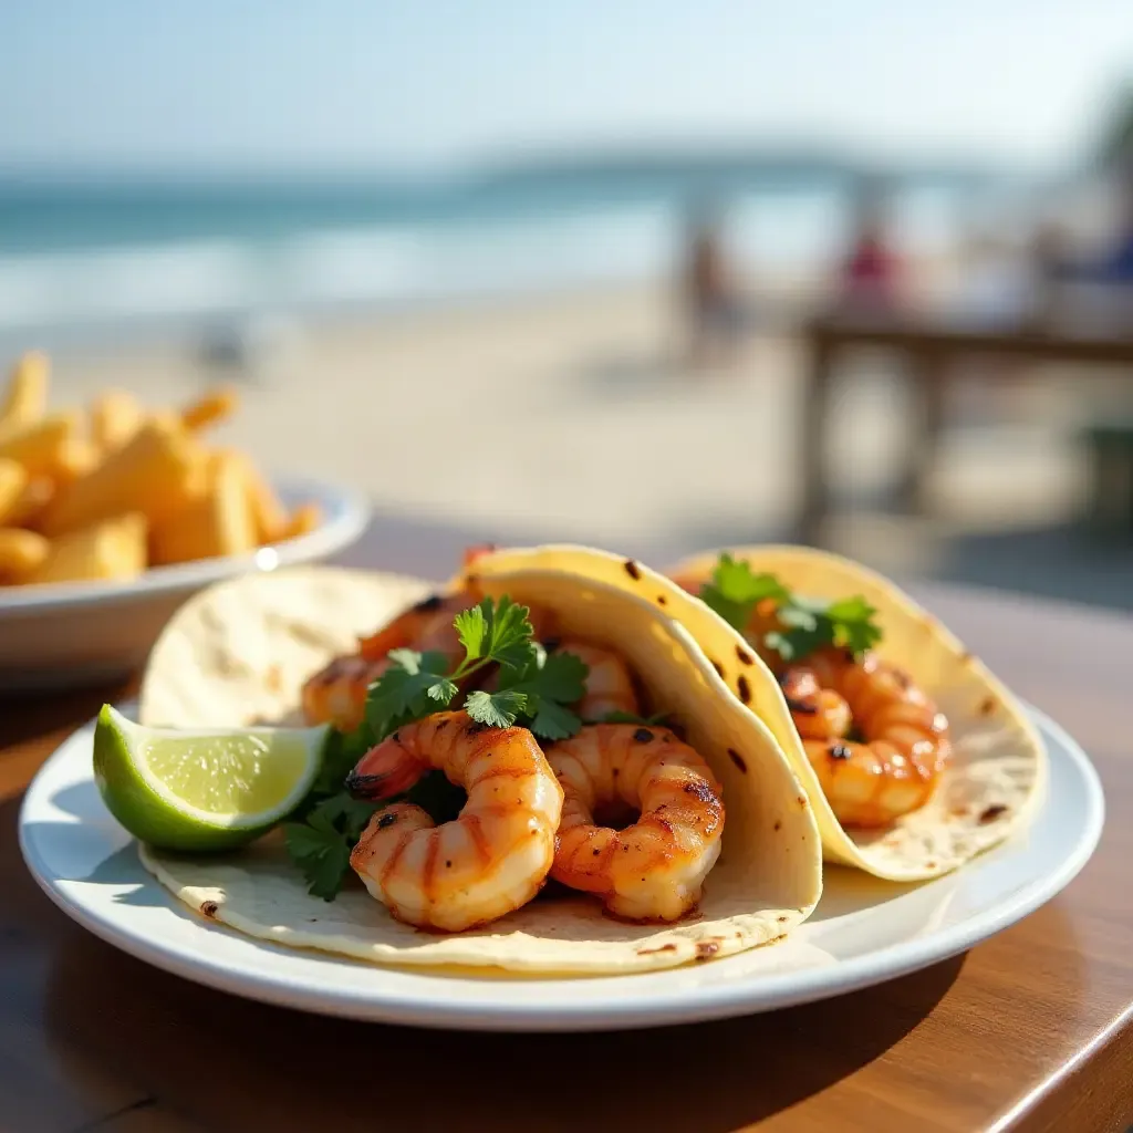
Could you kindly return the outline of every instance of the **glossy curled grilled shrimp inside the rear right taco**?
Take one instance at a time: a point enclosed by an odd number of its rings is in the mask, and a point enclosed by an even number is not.
[[[838,821],[887,826],[929,800],[952,751],[948,722],[904,673],[826,650],[780,684]]]

